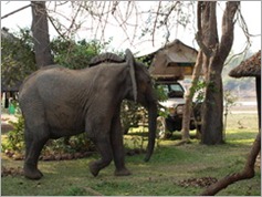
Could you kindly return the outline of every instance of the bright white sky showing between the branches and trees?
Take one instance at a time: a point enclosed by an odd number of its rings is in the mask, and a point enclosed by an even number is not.
[[[30,1],[1,1],[1,17],[10,13],[23,6],[29,4]],[[142,2],[148,6],[148,2]],[[69,8],[65,8],[69,9]],[[221,15],[222,15],[222,8],[219,6],[218,10],[218,31],[220,31],[221,23]],[[248,24],[250,34],[254,34],[258,37],[251,38],[251,51],[256,52],[261,49],[261,1],[241,1],[241,11],[243,18]],[[67,11],[65,12],[67,13]],[[6,27],[10,29],[10,31],[18,31],[19,28],[30,28],[32,22],[31,17],[31,8],[24,9],[18,13],[14,13],[6,19],[1,20],[1,28]],[[50,35],[51,38],[56,35],[54,29],[50,25]],[[112,30],[106,31],[106,35],[108,38],[113,38],[112,45],[118,50],[125,50],[126,48],[130,48],[133,52],[137,52],[142,54],[148,54],[150,52],[156,51],[157,49],[161,48],[163,40],[156,39],[155,44],[153,45],[151,42],[143,42],[140,43],[138,40],[135,41],[134,45],[130,45],[128,42],[124,42],[124,34],[120,29],[113,27]],[[77,32],[76,38],[84,39],[86,37],[86,30],[82,30]],[[192,42],[195,38],[195,32],[180,30],[178,33],[172,34],[171,39],[179,39],[184,43],[198,49],[196,42]],[[245,38],[240,29],[239,24],[235,24],[234,29],[234,43],[232,50],[234,53],[241,52],[245,45]]]

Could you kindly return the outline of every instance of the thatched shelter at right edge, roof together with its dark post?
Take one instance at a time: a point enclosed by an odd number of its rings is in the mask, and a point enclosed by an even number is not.
[[[254,76],[259,113],[259,128],[261,128],[261,50],[242,61],[240,65],[229,72],[232,77]]]

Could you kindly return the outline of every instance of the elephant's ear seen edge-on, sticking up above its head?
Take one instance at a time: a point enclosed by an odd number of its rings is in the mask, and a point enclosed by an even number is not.
[[[127,62],[127,65],[130,68],[129,71],[130,71],[134,101],[137,102],[137,84],[136,84],[136,74],[135,74],[136,62],[129,49],[126,50],[126,62]]]

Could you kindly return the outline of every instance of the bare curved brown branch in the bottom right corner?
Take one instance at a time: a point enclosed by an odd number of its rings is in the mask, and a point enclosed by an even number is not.
[[[226,176],[216,184],[209,186],[200,196],[213,196],[235,182],[254,177],[255,158],[258,157],[260,151],[261,151],[261,131],[255,137],[255,141],[250,151],[243,172]]]

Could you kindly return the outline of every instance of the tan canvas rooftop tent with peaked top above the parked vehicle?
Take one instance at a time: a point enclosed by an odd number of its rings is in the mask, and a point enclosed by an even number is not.
[[[154,52],[149,72],[155,79],[182,80],[192,74],[197,55],[197,50],[175,40]]]

